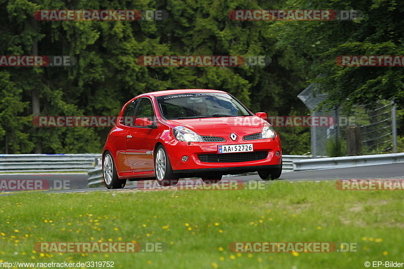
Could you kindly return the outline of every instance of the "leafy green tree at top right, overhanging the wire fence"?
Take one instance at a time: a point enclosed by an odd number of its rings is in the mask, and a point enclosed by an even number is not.
[[[298,9],[361,10],[352,21],[283,21],[269,30],[285,51],[284,66],[295,64],[307,80],[318,83],[331,108],[393,99],[404,102],[404,73],[395,67],[341,67],[339,55],[403,55],[404,3],[379,0],[289,1]],[[321,75],[321,76],[319,76]]]

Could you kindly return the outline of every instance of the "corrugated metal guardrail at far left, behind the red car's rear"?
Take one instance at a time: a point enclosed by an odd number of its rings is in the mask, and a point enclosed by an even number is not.
[[[100,154],[2,154],[0,172],[88,171]]]

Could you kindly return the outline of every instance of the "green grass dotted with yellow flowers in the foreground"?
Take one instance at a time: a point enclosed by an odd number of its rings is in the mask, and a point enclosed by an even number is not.
[[[335,181],[270,184],[267,190],[0,195],[0,261],[114,261],[115,268],[187,269],[365,268],[365,261],[403,261],[401,191],[343,191]],[[98,240],[166,242],[168,250],[33,253],[35,242]],[[228,249],[237,241],[358,242],[360,247],[356,253],[238,256]]]

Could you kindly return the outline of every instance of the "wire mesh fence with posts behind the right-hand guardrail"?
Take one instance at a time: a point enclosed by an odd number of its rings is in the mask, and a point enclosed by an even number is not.
[[[302,91],[298,98],[312,111],[312,116],[331,116],[332,126],[311,127],[311,154],[313,156],[345,156],[347,143],[351,143],[354,132],[347,128],[359,128],[358,143],[360,155],[392,153],[395,150],[396,134],[395,109],[392,101],[379,101],[375,104],[358,105],[347,113],[341,113],[338,108],[332,110],[314,110],[324,101],[326,94],[316,92],[316,85],[311,84]],[[351,144],[349,144],[351,145]],[[352,154],[350,154],[352,155]]]

